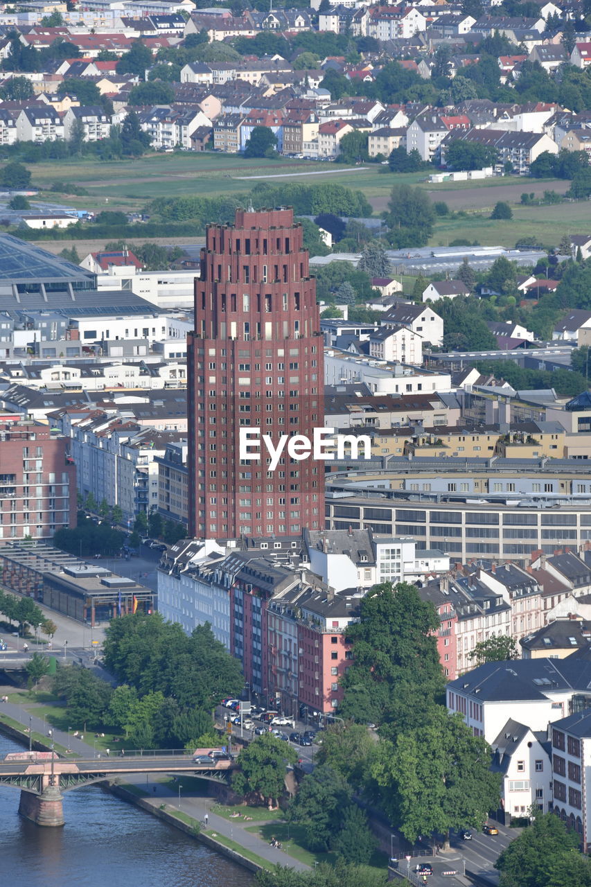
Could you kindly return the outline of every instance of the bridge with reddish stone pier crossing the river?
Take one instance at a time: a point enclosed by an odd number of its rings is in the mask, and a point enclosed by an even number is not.
[[[208,750],[199,750],[207,756]],[[63,826],[63,792],[80,789],[125,773],[193,773],[201,778],[227,781],[233,761],[193,761],[193,755],[178,752],[129,752],[122,757],[68,759],[51,752],[19,753],[17,760],[0,761],[0,785],[20,789],[21,816],[39,826]]]

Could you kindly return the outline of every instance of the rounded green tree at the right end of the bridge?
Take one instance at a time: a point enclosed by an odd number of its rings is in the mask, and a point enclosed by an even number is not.
[[[285,787],[286,764],[296,763],[296,751],[272,733],[265,733],[256,736],[238,760],[240,768],[232,777],[234,791],[255,797],[270,810],[276,808]]]

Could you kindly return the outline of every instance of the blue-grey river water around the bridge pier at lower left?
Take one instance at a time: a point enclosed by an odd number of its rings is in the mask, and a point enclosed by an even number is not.
[[[0,757],[22,746],[0,734]],[[246,869],[137,807],[89,786],[64,796],[64,828],[18,814],[0,786],[1,883],[23,887],[253,887]]]

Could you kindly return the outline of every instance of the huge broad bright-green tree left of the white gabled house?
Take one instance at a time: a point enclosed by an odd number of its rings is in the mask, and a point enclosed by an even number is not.
[[[382,808],[408,841],[450,828],[481,828],[499,803],[491,749],[443,705],[422,711],[394,742],[381,742],[371,768]]]

